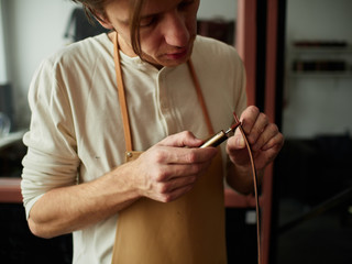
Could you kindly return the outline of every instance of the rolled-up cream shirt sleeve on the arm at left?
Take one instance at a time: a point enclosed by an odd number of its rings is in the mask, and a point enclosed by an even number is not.
[[[32,112],[22,172],[22,196],[26,217],[32,206],[48,190],[77,183],[77,141],[72,108],[59,68],[45,61],[35,73],[29,91]]]

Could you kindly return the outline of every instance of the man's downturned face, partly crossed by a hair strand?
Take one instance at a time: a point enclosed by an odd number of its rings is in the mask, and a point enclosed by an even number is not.
[[[197,34],[199,0],[145,0],[141,10],[142,57],[160,66],[177,66],[188,61]],[[129,28],[129,0],[106,6],[110,26],[119,33],[122,52],[133,56]]]

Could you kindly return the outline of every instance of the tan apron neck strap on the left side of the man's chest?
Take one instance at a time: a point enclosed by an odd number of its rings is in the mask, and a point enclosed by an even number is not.
[[[128,111],[128,105],[125,100],[124,85],[123,85],[122,70],[121,70],[121,64],[120,64],[119,40],[118,40],[119,34],[118,33],[114,33],[114,34],[116,34],[116,37],[113,37],[113,53],[114,53],[113,59],[114,59],[114,69],[117,72],[117,82],[118,82],[119,102],[120,102],[122,122],[123,122],[125,151],[132,152],[133,144],[132,144],[132,136],[131,136],[131,127],[130,127],[129,111]]]

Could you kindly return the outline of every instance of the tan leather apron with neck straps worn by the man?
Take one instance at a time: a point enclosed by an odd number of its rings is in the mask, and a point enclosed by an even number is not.
[[[114,38],[119,101],[124,127],[125,156],[129,162],[138,158],[141,153],[132,151],[117,36]],[[213,133],[193,65],[188,65],[209,132]],[[222,175],[219,151],[207,173],[201,175],[194,189],[182,198],[167,204],[141,198],[120,211],[112,263],[227,263]]]

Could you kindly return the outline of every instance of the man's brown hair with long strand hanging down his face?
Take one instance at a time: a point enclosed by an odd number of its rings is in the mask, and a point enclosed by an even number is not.
[[[105,11],[105,4],[109,1],[119,1],[119,0],[72,0],[76,3],[81,3],[85,10],[85,13],[90,22],[94,21],[94,18],[97,20],[107,19]],[[141,38],[140,38],[140,14],[144,0],[129,0],[130,1],[130,33],[131,33],[131,45],[135,54],[140,57],[142,55],[141,48]],[[102,16],[102,18],[101,18]]]

